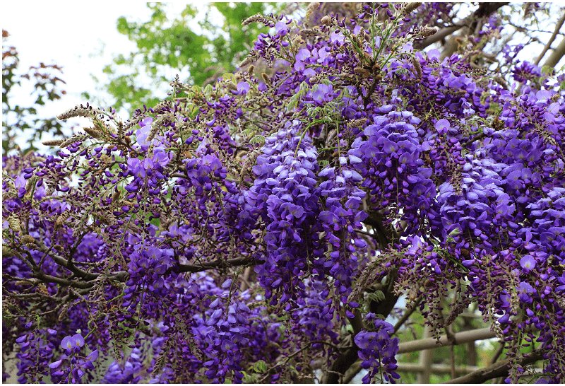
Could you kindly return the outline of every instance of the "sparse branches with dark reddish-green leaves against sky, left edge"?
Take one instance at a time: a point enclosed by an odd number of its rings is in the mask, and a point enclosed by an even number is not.
[[[20,60],[16,47],[9,45],[6,30],[2,30],[2,154],[9,151],[23,152],[37,150],[35,144],[41,140],[44,133],[51,132],[54,136],[63,135],[61,121],[55,117],[42,118],[37,115],[37,107],[45,105],[49,100],[57,100],[65,94],[59,76],[62,67],[57,64],[30,66],[27,74],[22,74],[18,68]],[[19,105],[13,102],[11,95],[17,88],[23,86],[23,80],[32,82],[33,91],[30,102]],[[24,146],[22,139],[27,139]]]

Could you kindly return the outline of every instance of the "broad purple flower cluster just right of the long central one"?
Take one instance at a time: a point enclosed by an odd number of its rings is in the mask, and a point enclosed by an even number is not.
[[[422,160],[429,144],[420,143],[415,129],[420,119],[412,112],[397,112],[392,105],[379,107],[379,112],[374,123],[364,127],[365,139],[358,136],[352,143],[347,153],[349,162],[361,175],[361,186],[370,189],[371,201],[377,207],[403,209],[406,233],[411,233],[419,228],[424,216],[435,217],[432,168]]]

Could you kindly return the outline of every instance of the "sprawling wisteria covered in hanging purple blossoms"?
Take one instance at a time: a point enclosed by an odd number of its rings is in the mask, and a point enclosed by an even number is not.
[[[501,6],[453,54],[420,50],[449,4],[251,16],[274,29],[236,74],[5,157],[20,381],[394,382],[402,300],[444,343],[470,305],[505,342],[456,381],[564,382],[565,76],[481,63]]]

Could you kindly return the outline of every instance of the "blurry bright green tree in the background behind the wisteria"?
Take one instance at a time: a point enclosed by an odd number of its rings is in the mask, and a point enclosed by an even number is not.
[[[136,42],[137,50],[114,56],[103,69],[109,83],[100,84],[114,98],[112,105],[130,110],[132,106],[154,105],[160,98],[153,90],[167,90],[174,74],[196,85],[212,83],[222,74],[233,72],[251,42],[261,33],[260,25],[242,27],[242,20],[255,13],[276,12],[276,3],[210,3],[197,21],[200,30],[191,29],[201,10],[188,4],[179,14],[167,12],[167,4],[148,3],[152,11],[145,22],[117,21],[119,33]],[[221,16],[221,18],[218,17]],[[160,95],[162,96],[162,95]],[[88,100],[93,95],[83,93]],[[98,101],[101,102],[101,101]],[[102,105],[107,105],[104,100]]]

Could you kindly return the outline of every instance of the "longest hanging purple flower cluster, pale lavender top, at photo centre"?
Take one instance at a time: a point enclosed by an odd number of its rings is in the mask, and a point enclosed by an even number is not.
[[[256,266],[266,298],[282,292],[280,301],[304,295],[300,276],[309,271],[316,238],[320,189],[316,185],[316,150],[308,136],[300,136],[299,122],[266,139],[263,154],[253,167],[256,180],[246,192],[246,209],[266,223],[265,263]],[[291,305],[289,303],[288,308]]]

